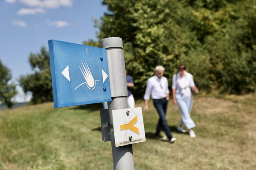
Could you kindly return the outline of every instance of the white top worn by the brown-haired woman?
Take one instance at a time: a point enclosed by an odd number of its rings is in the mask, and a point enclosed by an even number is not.
[[[172,89],[176,89],[176,98],[190,97],[192,95],[190,87],[193,86],[195,83],[192,74],[186,72],[184,77],[181,77],[179,73],[173,75]]]

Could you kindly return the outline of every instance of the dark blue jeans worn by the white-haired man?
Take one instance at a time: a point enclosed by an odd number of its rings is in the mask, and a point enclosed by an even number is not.
[[[167,120],[166,120],[166,110],[167,110],[167,105],[168,105],[168,100],[164,99],[153,99],[153,103],[154,103],[154,107],[158,112],[159,115],[159,121],[158,121],[158,125],[156,128],[156,135],[160,134],[160,131],[162,129],[162,127],[165,130],[166,136],[171,139],[172,138],[172,134],[171,134],[171,130],[169,129],[169,126],[167,124]]]

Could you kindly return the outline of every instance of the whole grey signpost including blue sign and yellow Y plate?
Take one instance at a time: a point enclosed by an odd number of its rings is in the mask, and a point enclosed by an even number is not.
[[[111,141],[115,170],[134,170],[133,143],[146,141],[141,108],[129,108],[123,42],[102,48],[49,40],[54,107],[108,101],[100,111],[102,141]]]

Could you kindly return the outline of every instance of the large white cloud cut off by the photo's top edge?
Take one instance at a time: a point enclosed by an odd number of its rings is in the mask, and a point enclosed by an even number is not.
[[[60,6],[71,7],[73,0],[19,0],[19,2],[37,8],[58,8]]]

